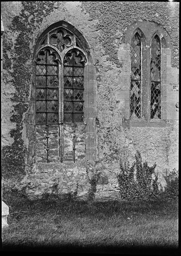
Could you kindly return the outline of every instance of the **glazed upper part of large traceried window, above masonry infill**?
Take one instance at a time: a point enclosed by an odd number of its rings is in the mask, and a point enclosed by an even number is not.
[[[59,112],[62,116],[59,121],[83,121],[86,59],[80,45],[78,38],[62,27],[50,31],[41,40],[36,59],[36,124],[58,123]],[[67,52],[69,47],[71,49]],[[62,106],[58,102],[60,100],[63,101],[63,109],[58,109]]]

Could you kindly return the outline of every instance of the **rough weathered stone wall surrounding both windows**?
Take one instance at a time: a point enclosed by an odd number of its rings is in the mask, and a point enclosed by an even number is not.
[[[174,2],[2,2],[4,186],[26,187],[33,197],[52,192],[55,184],[58,193],[75,192],[78,182],[78,196],[86,198],[90,183],[85,166],[91,162],[94,168],[99,162],[103,168],[98,168],[101,175],[96,199],[117,198],[115,172],[119,173],[119,159],[126,153],[133,162],[137,150],[149,165],[156,162],[159,181],[165,185],[165,169],[178,169],[178,7]],[[58,127],[49,128],[50,163],[46,163],[46,129],[34,129],[32,56],[39,36],[60,20],[74,26],[89,47],[91,61],[84,77],[86,118],[76,127],[64,125],[64,135]],[[170,41],[165,39],[167,47],[164,42],[162,47],[162,120],[130,120],[131,57],[127,39],[138,23],[145,33],[149,31],[149,40],[156,27],[162,27],[170,37]],[[144,51],[148,47],[150,44]],[[143,61],[149,69],[149,60]],[[144,85],[149,90],[147,81]],[[147,97],[144,112],[149,111],[149,93]],[[67,162],[61,163],[62,137]]]

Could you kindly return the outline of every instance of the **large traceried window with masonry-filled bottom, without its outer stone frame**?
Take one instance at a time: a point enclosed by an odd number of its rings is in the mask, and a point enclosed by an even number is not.
[[[37,162],[75,162],[75,159],[85,157],[85,145],[82,142],[85,143],[86,137],[84,124],[86,62],[81,41],[64,27],[52,29],[37,47],[35,57]]]

